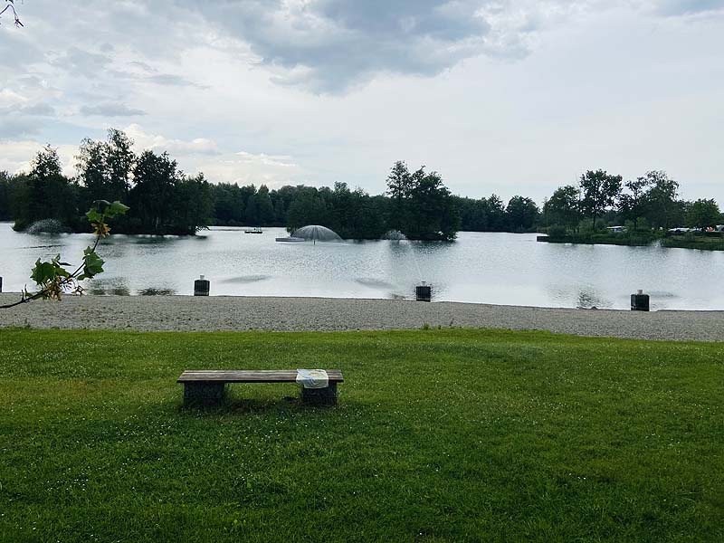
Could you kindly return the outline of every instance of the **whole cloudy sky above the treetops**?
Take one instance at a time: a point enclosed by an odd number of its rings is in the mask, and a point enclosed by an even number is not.
[[[542,204],[587,169],[724,205],[724,0],[86,0],[0,18],[0,170],[123,129],[212,182]]]

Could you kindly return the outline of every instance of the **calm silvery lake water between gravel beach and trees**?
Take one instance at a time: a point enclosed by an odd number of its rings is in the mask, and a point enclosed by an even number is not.
[[[196,237],[115,235],[100,245],[106,272],[94,294],[192,294],[205,274],[212,295],[411,298],[541,307],[628,309],[636,289],[653,309],[724,310],[724,252],[537,243],[535,234],[462,232],[455,243],[275,243],[212,228]],[[90,234],[14,233],[0,223],[3,291],[33,287],[38,257],[77,263]]]

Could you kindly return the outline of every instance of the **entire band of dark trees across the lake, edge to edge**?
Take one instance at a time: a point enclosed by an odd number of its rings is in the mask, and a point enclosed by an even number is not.
[[[633,229],[722,224],[714,200],[685,202],[679,184],[651,171],[624,182],[605,170],[587,171],[577,186],[560,186],[542,210],[529,197],[507,204],[498,195],[479,199],[452,195],[443,177],[396,162],[386,178],[386,193],[369,195],[343,182],[334,186],[239,186],[209,183],[203,174],[187,176],[167,153],[133,151],[122,131],[110,129],[103,141],[84,139],[76,175],[62,175],[57,151],[47,146],[29,172],[0,172],[0,220],[17,230],[42,219],[56,219],[83,232],[82,210],[94,201],[119,200],[129,213],[113,225],[116,233],[195,233],[209,225],[281,226],[290,231],[321,224],[344,238],[378,239],[396,230],[410,239],[450,240],[459,230],[534,232],[630,222]]]

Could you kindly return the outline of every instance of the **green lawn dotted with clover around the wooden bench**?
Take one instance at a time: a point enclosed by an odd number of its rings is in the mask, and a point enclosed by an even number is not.
[[[724,345],[0,329],[2,541],[722,541]],[[339,405],[186,368],[338,367]],[[286,396],[286,397],[285,397]]]

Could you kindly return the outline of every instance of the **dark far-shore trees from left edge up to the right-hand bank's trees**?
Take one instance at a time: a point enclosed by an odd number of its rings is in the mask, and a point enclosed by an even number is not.
[[[410,171],[404,162],[392,167],[384,195],[343,182],[273,190],[212,184],[203,174],[184,174],[167,153],[138,155],[117,129],[102,141],[82,140],[75,169],[75,176],[64,176],[57,150],[49,145],[28,172],[0,172],[0,220],[13,220],[16,230],[24,230],[55,219],[69,231],[85,232],[82,210],[97,200],[118,200],[130,210],[113,224],[115,233],[189,234],[209,225],[293,231],[321,224],[344,238],[378,239],[396,230],[410,239],[451,240],[460,229],[529,230],[539,214],[532,200],[520,196],[506,207],[496,195],[481,200],[452,195],[438,172]]]

